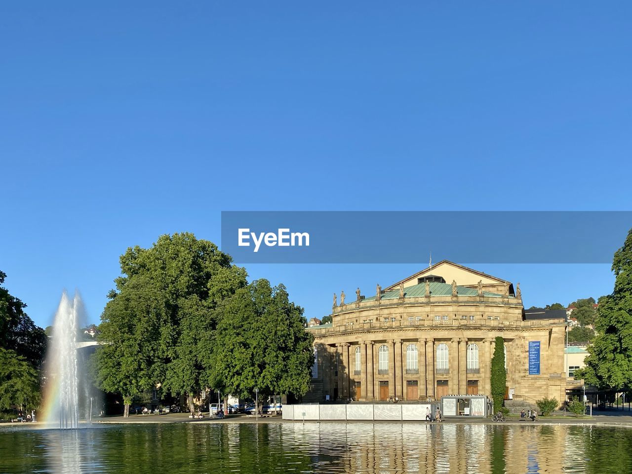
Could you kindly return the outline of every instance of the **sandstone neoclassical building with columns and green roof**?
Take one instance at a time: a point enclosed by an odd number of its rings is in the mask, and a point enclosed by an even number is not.
[[[332,322],[307,329],[316,361],[304,401],[490,395],[497,336],[507,399],[565,398],[566,320],[525,313],[520,284],[443,260],[349,299],[334,295]]]

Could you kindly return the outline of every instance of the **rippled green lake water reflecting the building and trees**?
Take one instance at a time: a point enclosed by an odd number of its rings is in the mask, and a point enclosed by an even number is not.
[[[631,473],[632,430],[217,423],[0,428],[0,473]]]

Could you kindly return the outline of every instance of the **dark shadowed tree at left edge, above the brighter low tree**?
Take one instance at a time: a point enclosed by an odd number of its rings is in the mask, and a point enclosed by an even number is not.
[[[0,284],[6,274],[0,271]],[[44,330],[24,312],[27,305],[0,286],[0,348],[15,351],[33,367],[40,368],[46,354],[48,339]]]

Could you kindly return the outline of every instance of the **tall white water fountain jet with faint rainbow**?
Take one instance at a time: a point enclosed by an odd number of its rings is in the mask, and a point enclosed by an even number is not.
[[[77,293],[70,300],[61,295],[55,313],[52,343],[46,359],[47,381],[44,420],[52,427],[73,429],[79,422],[79,372],[76,335],[81,298]]]

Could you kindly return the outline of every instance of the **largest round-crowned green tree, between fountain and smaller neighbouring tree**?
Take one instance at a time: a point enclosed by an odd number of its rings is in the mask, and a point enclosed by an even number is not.
[[[99,327],[105,344],[95,378],[126,405],[156,384],[174,396],[200,392],[209,380],[214,308],[246,285],[245,270],[190,233],[128,248],[120,263],[123,276]]]

